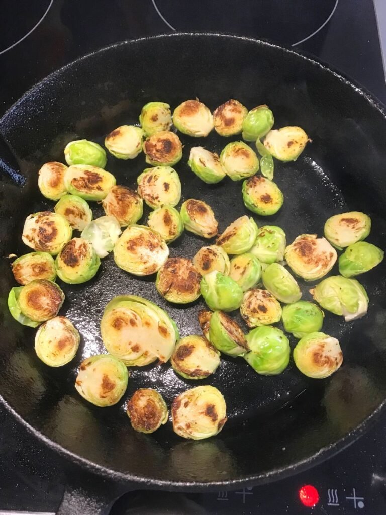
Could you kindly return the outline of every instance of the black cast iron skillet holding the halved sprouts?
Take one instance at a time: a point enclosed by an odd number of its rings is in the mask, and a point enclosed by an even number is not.
[[[345,323],[326,315],[324,331],[340,339],[344,352],[341,370],[330,379],[308,381],[292,361],[278,377],[259,376],[243,359],[223,356],[219,370],[201,384],[213,384],[223,392],[229,422],[220,435],[207,441],[184,441],[173,434],[171,423],[150,436],[135,433],[123,402],[97,408],[74,389],[81,359],[102,350],[99,322],[111,298],[131,293],[156,302],[176,320],[182,336],[199,333],[196,313],[202,301],[172,306],[157,294],[154,277],[134,278],[117,268],[110,255],[95,280],[84,285],[60,283],[66,294],[61,314],[82,335],[73,363],[60,369],[39,361],[33,350],[34,331],[9,315],[6,298],[14,281],[5,256],[28,251],[21,243],[26,215],[54,205],[38,191],[37,170],[42,163],[63,161],[68,141],[98,141],[118,125],[137,122],[149,100],[164,100],[174,108],[196,96],[211,109],[229,98],[249,108],[267,103],[275,113],[275,127],[300,125],[313,140],[295,163],[277,163],[275,181],[285,203],[275,216],[255,216],[258,225],[283,227],[291,242],[301,233],[321,235],[332,214],[359,210],[373,220],[369,241],[386,248],[384,108],[326,66],[292,50],[208,34],[129,41],[62,68],[17,101],[0,121],[8,147],[4,145],[8,165],[3,163],[0,183],[0,392],[4,405],[50,448],[67,462],[119,482],[119,491],[235,488],[285,477],[352,442],[380,413],[386,399],[384,264],[360,278],[370,295],[367,316]],[[206,139],[183,135],[181,139],[184,158],[176,168],[182,201],[194,197],[208,202],[220,230],[243,214],[251,215],[241,200],[241,182],[225,179],[205,185],[186,165],[191,146],[220,151],[229,140],[216,133]],[[132,187],[144,167],[143,156],[126,162],[109,158],[107,165],[118,184]],[[96,216],[102,214],[96,203],[93,210]],[[205,243],[185,233],[171,245],[171,255],[191,258]],[[312,284],[300,283],[303,298],[309,299]],[[168,364],[134,368],[124,400],[136,388],[150,386],[170,406],[178,393],[196,384],[177,377]],[[106,504],[117,491],[100,482],[94,486],[97,501],[87,504],[84,492],[69,493],[60,513],[102,512],[104,490],[110,496],[104,499]]]

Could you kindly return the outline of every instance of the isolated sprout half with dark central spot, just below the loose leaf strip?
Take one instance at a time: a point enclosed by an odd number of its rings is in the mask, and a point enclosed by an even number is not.
[[[242,183],[244,205],[260,216],[274,215],[282,207],[284,195],[278,185],[260,175],[255,175]]]

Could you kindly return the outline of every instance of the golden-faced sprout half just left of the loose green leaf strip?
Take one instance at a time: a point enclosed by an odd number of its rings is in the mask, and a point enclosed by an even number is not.
[[[220,163],[226,175],[233,181],[251,177],[259,169],[256,153],[242,141],[228,143],[221,150]]]

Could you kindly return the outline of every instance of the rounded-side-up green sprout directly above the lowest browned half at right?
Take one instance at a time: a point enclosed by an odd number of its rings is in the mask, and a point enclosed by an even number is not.
[[[287,333],[295,338],[303,338],[306,334],[322,329],[324,313],[319,306],[300,300],[283,307],[283,325]]]

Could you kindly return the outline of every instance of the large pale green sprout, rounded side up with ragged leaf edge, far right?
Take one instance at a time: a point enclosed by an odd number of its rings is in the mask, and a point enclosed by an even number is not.
[[[311,289],[310,293],[325,310],[344,316],[346,322],[367,313],[369,297],[356,279],[330,276]]]

